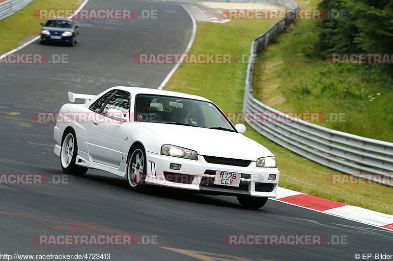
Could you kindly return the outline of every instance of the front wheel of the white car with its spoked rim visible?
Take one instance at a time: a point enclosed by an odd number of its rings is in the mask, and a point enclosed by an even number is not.
[[[140,192],[146,188],[146,169],[146,152],[143,146],[138,144],[131,150],[127,164],[127,184],[130,190]]]

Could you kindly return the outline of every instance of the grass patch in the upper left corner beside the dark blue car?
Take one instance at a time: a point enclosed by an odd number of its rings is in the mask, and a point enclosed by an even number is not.
[[[36,9],[75,9],[82,0],[34,0],[13,15],[0,20],[0,53],[10,51],[39,34],[40,23],[46,20],[36,19]]]

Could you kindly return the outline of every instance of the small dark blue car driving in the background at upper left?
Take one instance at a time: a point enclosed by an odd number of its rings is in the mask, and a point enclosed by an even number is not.
[[[40,44],[45,43],[63,43],[74,46],[78,43],[78,25],[74,24],[71,19],[52,18],[41,29]]]

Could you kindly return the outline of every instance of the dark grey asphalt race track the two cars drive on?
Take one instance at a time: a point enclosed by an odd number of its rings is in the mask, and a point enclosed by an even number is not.
[[[0,185],[0,253],[110,253],[113,261],[354,260],[356,253],[392,250],[393,233],[269,200],[245,210],[234,197],[153,187],[132,192],[125,179],[90,169],[63,175],[53,153],[52,123],[36,112],[56,112],[67,92],[98,94],[116,85],[156,88],[173,65],[139,65],[136,53],[181,53],[192,20],[177,3],[90,0],[84,8],[157,9],[159,19],[80,21],[76,47],[39,45],[19,53],[68,54],[68,64],[0,65],[0,173],[45,174],[63,184]],[[301,174],[301,173],[299,173]],[[36,235],[156,236],[157,244],[131,246],[38,245]],[[346,244],[231,246],[225,235],[344,236]],[[145,237],[144,237],[145,238]]]

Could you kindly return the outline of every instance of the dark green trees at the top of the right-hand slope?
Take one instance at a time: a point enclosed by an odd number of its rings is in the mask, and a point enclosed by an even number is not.
[[[348,10],[349,18],[320,22],[313,55],[393,52],[392,0],[323,0],[319,8]]]

